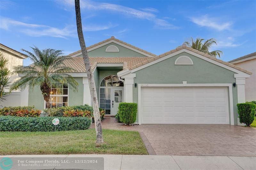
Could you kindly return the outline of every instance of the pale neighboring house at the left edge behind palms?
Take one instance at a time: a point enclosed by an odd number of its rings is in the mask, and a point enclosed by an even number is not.
[[[4,58],[8,59],[7,68],[12,72],[13,66],[23,65],[23,59],[26,59],[27,57],[20,53],[19,51],[16,51],[12,48],[9,48],[3,44],[0,44],[0,52],[4,54]],[[10,78],[10,81],[15,81],[19,79],[18,75],[12,75]],[[28,103],[24,103],[24,100],[21,100],[20,96],[26,96],[28,95],[28,92],[12,92],[10,95],[6,97],[6,100],[2,102],[1,106],[25,106],[28,105]]]

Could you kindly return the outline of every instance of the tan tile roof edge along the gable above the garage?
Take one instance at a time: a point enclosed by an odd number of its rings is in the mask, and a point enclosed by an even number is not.
[[[175,48],[175,49],[173,49],[173,50],[171,50],[171,51],[165,52],[164,54],[157,55],[157,56],[155,56],[155,57],[151,57],[151,58],[149,58],[148,60],[145,60],[145,61],[143,61],[143,62],[141,62],[141,63],[134,64],[132,67],[129,67],[128,69],[129,69],[129,70],[135,69],[135,68],[140,67],[140,66],[142,66],[142,65],[144,65],[144,64],[147,64],[147,63],[150,63],[150,62],[152,62],[152,61],[154,61],[154,60],[157,60],[157,59],[159,59],[159,58],[161,58],[161,57],[164,57],[164,56],[166,56],[166,55],[172,54],[172,53],[174,53],[174,52],[176,52],[176,51],[180,51],[180,50],[182,50],[182,49],[184,49],[184,48],[185,48],[185,49],[188,49],[188,50],[190,50],[190,51],[193,51],[193,52],[195,52],[195,53],[198,53],[198,54],[200,54],[200,55],[203,55],[203,56],[205,56],[205,57],[207,57],[207,58],[210,58],[210,59],[212,59],[212,60],[215,60],[215,61],[217,61],[217,62],[219,62],[219,63],[225,64],[225,65],[228,65],[228,66],[230,66],[230,67],[233,67],[233,68],[235,68],[235,69],[237,69],[237,70],[243,71],[243,72],[245,72],[245,73],[247,73],[247,74],[250,74],[250,75],[252,74],[252,72],[247,71],[247,70],[244,70],[244,69],[242,69],[241,67],[238,67],[238,66],[236,66],[236,65],[234,65],[234,64],[230,64],[230,63],[228,63],[228,62],[225,62],[225,61],[222,61],[222,60],[217,59],[217,58],[215,58],[215,57],[212,57],[211,55],[204,54],[204,53],[201,52],[201,51],[198,51],[198,50],[195,50],[195,49],[193,49],[193,48],[187,47],[186,44],[182,44],[182,46],[180,46],[180,47],[178,47],[178,48]]]

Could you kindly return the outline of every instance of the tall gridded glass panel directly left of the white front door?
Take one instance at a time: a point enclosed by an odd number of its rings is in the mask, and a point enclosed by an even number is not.
[[[105,109],[105,114],[111,114],[111,88],[100,88],[100,108]]]

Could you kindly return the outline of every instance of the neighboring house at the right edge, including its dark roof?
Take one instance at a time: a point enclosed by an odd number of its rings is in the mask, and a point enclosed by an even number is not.
[[[256,100],[256,52],[244,55],[229,61],[228,63],[234,64],[238,67],[246,68],[252,72],[250,78],[245,80],[245,100],[255,101]]]

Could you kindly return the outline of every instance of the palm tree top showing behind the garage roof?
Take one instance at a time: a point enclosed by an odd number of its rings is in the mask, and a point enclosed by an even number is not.
[[[200,39],[200,38],[196,38],[196,41],[194,41],[193,38],[191,37],[191,44],[188,41],[185,41],[184,44],[186,44],[188,47],[201,51],[205,54],[209,54],[213,57],[216,57],[217,55],[220,57],[220,55],[222,54],[222,51],[220,50],[209,51],[213,44],[217,45],[217,42],[215,39],[211,38],[211,39],[205,40],[204,42],[203,41],[204,39]]]

